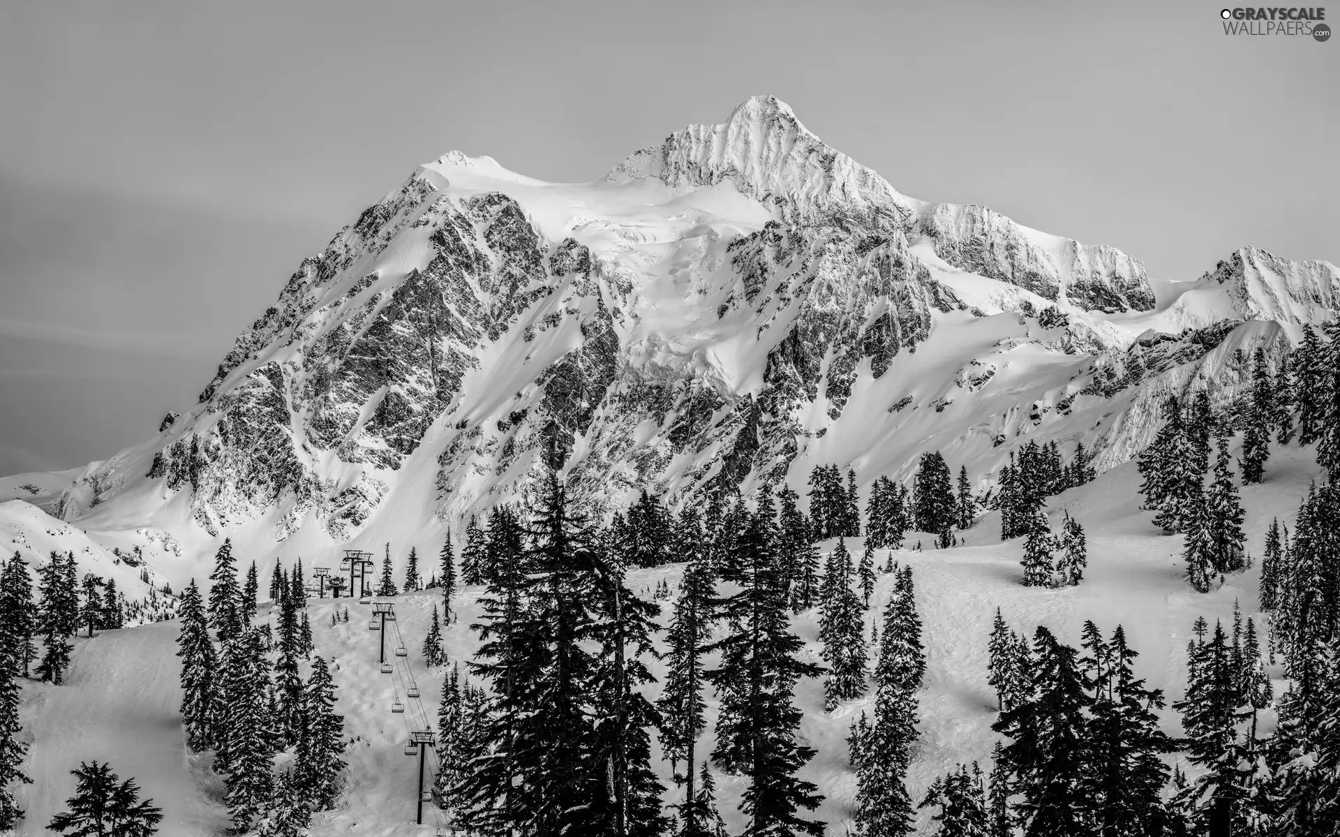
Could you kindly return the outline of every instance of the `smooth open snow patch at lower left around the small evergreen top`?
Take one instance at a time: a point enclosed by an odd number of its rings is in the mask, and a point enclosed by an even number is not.
[[[40,647],[39,647],[40,648]],[[109,762],[134,778],[141,798],[163,809],[159,833],[213,836],[228,812],[197,782],[182,738],[177,622],[157,622],[74,640],[62,685],[24,685],[23,727],[32,738],[19,786],[25,810],[17,834],[51,834],[46,825],[74,794],[79,762]]]

